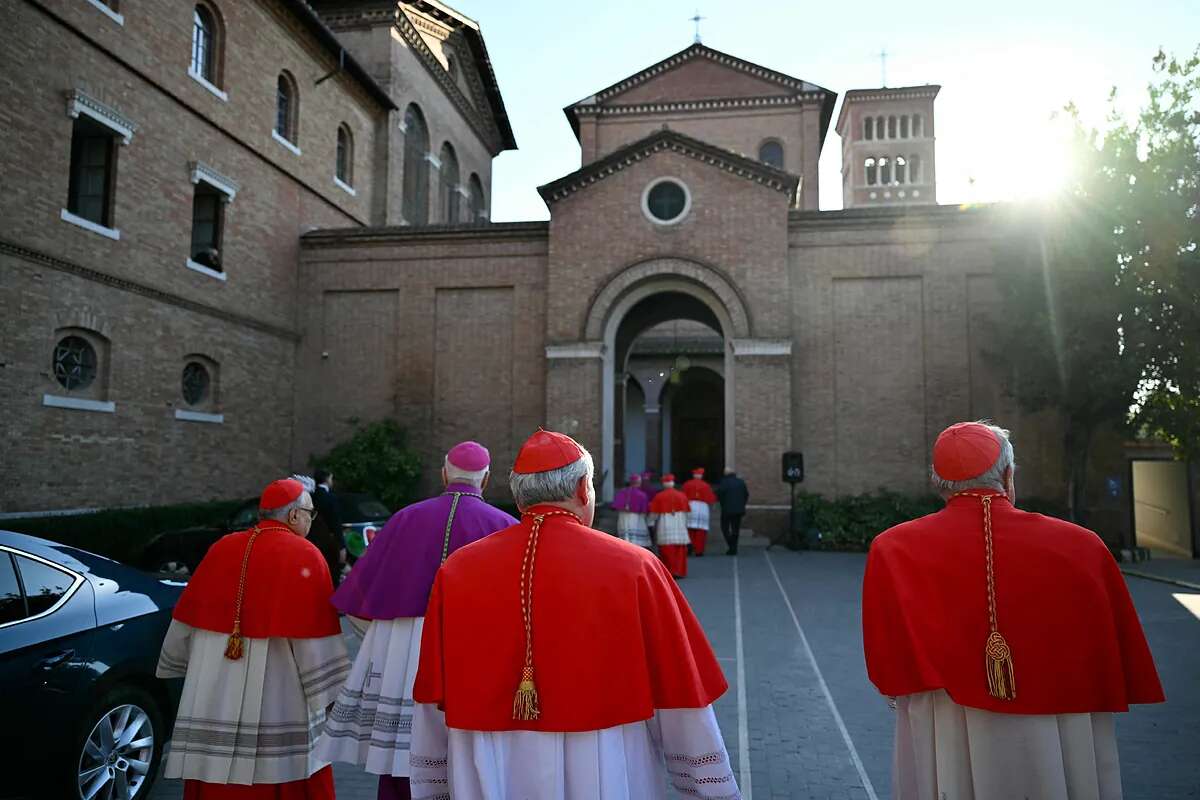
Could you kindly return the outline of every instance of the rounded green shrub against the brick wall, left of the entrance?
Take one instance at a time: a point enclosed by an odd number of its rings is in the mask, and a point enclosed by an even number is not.
[[[421,457],[408,446],[408,432],[395,420],[359,427],[349,439],[313,458],[312,465],[334,474],[337,492],[365,492],[389,509],[415,500],[421,480]]]

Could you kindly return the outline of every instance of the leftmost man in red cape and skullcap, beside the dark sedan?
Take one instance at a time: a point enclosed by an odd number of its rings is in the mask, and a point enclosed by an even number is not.
[[[334,798],[313,747],[350,662],[305,539],[314,513],[300,482],[275,481],[259,522],[210,547],[175,606],[156,673],[184,679],[163,775],[185,800]]]

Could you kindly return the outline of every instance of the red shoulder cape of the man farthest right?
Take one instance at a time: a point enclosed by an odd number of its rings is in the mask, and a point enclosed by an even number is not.
[[[1013,654],[1015,699],[988,693],[983,509],[970,497],[872,542],[863,582],[871,682],[890,696],[943,688],[960,705],[1007,714],[1160,703],[1141,624],[1100,539],[1003,498],[991,512],[996,613]]]

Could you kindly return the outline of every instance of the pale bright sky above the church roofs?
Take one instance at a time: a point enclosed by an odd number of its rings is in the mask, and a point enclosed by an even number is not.
[[[809,80],[841,96],[881,85],[940,84],[937,199],[1038,197],[1063,173],[1062,122],[1074,102],[1100,125],[1109,91],[1136,112],[1159,47],[1200,44],[1200,0],[967,0],[785,2],[740,0],[449,0],[475,19],[518,150],[493,163],[492,219],[546,219],[536,187],[580,167],[563,107],[692,43]],[[821,156],[821,207],[841,207],[841,142]]]

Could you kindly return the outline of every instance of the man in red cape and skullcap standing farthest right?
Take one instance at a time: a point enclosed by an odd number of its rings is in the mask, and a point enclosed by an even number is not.
[[[895,698],[898,800],[1120,798],[1114,712],[1164,699],[1104,542],[1019,511],[1013,469],[1007,431],[950,426],[946,507],[871,543],[863,644]]]

